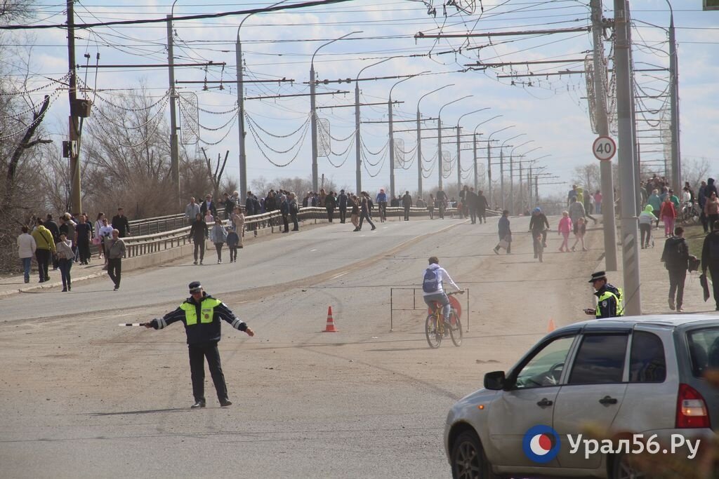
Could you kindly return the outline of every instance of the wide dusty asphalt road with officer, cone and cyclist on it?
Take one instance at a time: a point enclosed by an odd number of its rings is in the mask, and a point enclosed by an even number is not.
[[[556,218],[550,218],[553,225]],[[442,431],[449,407],[508,368],[592,298],[586,277],[600,257],[532,258],[526,219],[513,218],[513,254],[495,256],[497,219],[348,225],[255,243],[237,264],[191,261],[130,272],[73,292],[0,301],[0,465],[12,478],[449,478]],[[439,256],[470,289],[461,348],[430,350],[414,287]],[[208,408],[191,410],[180,325],[150,320],[199,280],[257,335],[224,328],[224,374],[234,404],[221,409],[207,378]],[[581,280],[581,281],[580,281]],[[466,297],[462,299],[463,304]],[[411,310],[413,303],[416,310]],[[339,332],[323,333],[331,305]]]

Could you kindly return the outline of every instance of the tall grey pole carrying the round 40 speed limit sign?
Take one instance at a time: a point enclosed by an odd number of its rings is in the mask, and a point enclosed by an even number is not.
[[[609,119],[607,116],[607,92],[605,91],[605,65],[603,62],[603,24],[602,0],[591,0],[592,37],[594,39],[594,94],[595,124],[600,136],[609,136]],[[614,215],[614,180],[612,163],[600,162],[602,182],[602,222],[604,225],[604,263],[606,271],[617,271],[617,237]]]

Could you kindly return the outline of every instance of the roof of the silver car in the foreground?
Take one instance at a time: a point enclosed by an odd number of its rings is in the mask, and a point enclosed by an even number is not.
[[[688,329],[695,326],[719,326],[719,313],[695,313],[684,315],[645,315],[645,316],[622,316],[602,320],[589,320],[575,322],[554,331],[555,334],[572,332],[576,330],[611,330],[627,329],[636,325],[660,325],[666,327],[682,327]]]

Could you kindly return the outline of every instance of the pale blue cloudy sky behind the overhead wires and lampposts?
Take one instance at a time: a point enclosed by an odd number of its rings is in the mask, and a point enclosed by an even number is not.
[[[288,3],[293,3],[289,0]],[[104,22],[115,19],[162,18],[170,14],[172,1],[150,1],[141,4],[134,1],[75,2],[76,22]],[[174,7],[175,17],[191,14],[234,11],[273,2],[223,2],[210,0],[178,0]],[[465,2],[466,4],[467,2]],[[246,97],[300,95],[309,92],[306,84],[309,78],[310,60],[313,52],[330,39],[349,32],[346,40],[323,47],[316,55],[314,65],[317,78],[336,80],[355,78],[359,70],[388,57],[395,57],[380,65],[367,68],[362,78],[409,75],[421,72],[429,74],[411,78],[400,83],[393,90],[395,121],[413,120],[416,116],[418,99],[431,90],[444,85],[452,87],[427,96],[421,102],[421,113],[435,118],[439,108],[457,98],[472,95],[447,106],[442,111],[444,126],[457,125],[459,116],[481,108],[485,111],[467,114],[462,118],[462,134],[472,133],[482,121],[477,132],[487,135],[493,131],[512,126],[494,139],[504,141],[518,134],[522,136],[508,141],[521,145],[515,154],[529,152],[526,159],[539,159],[546,166],[546,172],[559,176],[559,185],[545,185],[541,193],[567,190],[574,167],[595,162],[591,144],[595,134],[591,131],[586,100],[584,75],[547,75],[560,70],[583,70],[583,62],[557,63],[546,65],[517,65],[515,67],[493,68],[485,71],[461,73],[466,65],[480,62],[522,62],[528,60],[582,59],[592,49],[591,34],[574,32],[544,34],[521,37],[474,37],[470,39],[415,39],[415,34],[485,33],[508,32],[533,29],[564,29],[589,24],[590,12],[587,1],[554,0],[484,0],[477,1],[473,14],[460,13],[454,7],[447,7],[447,16],[438,1],[434,1],[436,17],[427,13],[428,8],[421,1],[411,0],[357,0],[331,6],[314,7],[293,11],[257,14],[244,22],[241,30],[244,51],[244,75],[249,80],[288,78],[293,83],[252,83],[247,85]],[[613,2],[604,1],[605,17],[613,17]],[[37,8],[37,24],[63,23],[64,2],[41,1]],[[483,12],[480,11],[480,5]],[[715,93],[716,78],[719,77],[719,11],[701,11],[701,0],[673,1],[674,21],[677,26],[679,43],[679,94],[681,97],[682,157],[691,159],[707,157],[713,162],[713,169],[719,170],[716,152],[719,141],[717,124],[719,102]],[[633,40],[636,42],[634,55],[637,69],[667,67],[667,32],[659,27],[668,27],[669,11],[665,0],[631,1],[632,17],[635,21]],[[226,62],[224,68],[177,68],[175,78],[182,81],[237,79],[235,61],[235,39],[237,26],[243,17],[223,17],[188,22],[175,22],[175,62]],[[654,27],[654,24],[658,27]],[[47,29],[32,32],[35,43],[30,71],[33,85],[48,83],[47,78],[61,78],[67,71],[66,34],[63,29]],[[85,63],[86,53],[91,55],[91,65],[100,54],[100,65],[164,64],[167,62],[167,36],[165,24],[147,24],[142,27],[97,27],[78,30],[76,44],[77,60]],[[17,43],[22,43],[19,41]],[[610,42],[605,51],[610,55]],[[7,60],[13,62],[13,60]],[[533,77],[498,78],[512,73],[534,73]],[[95,95],[96,102],[114,102],[122,91],[137,88],[147,83],[150,93],[157,99],[168,90],[166,68],[115,68],[99,70],[78,70],[81,79],[91,88],[99,90],[88,93]],[[641,75],[641,76],[639,76]],[[638,85],[647,95],[660,95],[667,88],[668,73],[663,71],[638,73]],[[386,121],[388,119],[388,94],[397,79],[360,82],[361,101],[384,103],[380,106],[362,108],[362,121]],[[531,82],[531,85],[529,85]],[[514,83],[514,84],[512,84]],[[209,83],[210,89],[203,90],[202,84],[178,85],[180,92],[196,93],[198,98],[200,127],[198,147],[204,147],[213,157],[229,150],[229,175],[239,173],[238,126],[233,118],[237,116],[237,90],[234,83],[224,83],[223,90],[218,84]],[[38,90],[33,95],[40,101],[42,95],[56,88],[55,85]],[[319,159],[320,174],[331,177],[340,187],[354,190],[355,149],[354,83],[330,83],[320,85],[318,92],[347,90],[342,95],[317,97],[318,106],[323,108],[319,116],[330,124],[333,154]],[[160,103],[163,104],[163,103]],[[664,105],[664,98],[647,98],[638,104],[638,110],[657,111]],[[272,180],[275,177],[308,177],[311,172],[311,141],[305,128],[310,110],[307,96],[291,98],[247,100],[247,114],[254,127],[247,131],[248,177],[251,181],[260,175]],[[54,101],[50,111],[47,129],[52,139],[60,141],[67,135],[67,96],[65,92]],[[184,111],[184,108],[183,108]],[[169,117],[169,109],[160,112]],[[659,114],[642,113],[649,121],[640,121],[640,128],[655,129],[659,126]],[[667,116],[668,118],[668,116]],[[89,121],[100,121],[93,116]],[[436,121],[426,121],[423,136],[436,136]],[[413,122],[395,124],[395,131],[414,129]],[[186,133],[191,131],[186,131]],[[296,132],[296,133],[293,133]],[[445,130],[444,135],[454,139],[454,131]],[[654,133],[647,131],[646,136]],[[406,151],[403,168],[395,170],[396,191],[416,190],[417,159],[416,133],[395,134],[403,139]],[[470,137],[463,140],[470,141]],[[257,145],[260,141],[260,147]],[[645,139],[642,159],[656,166],[663,173],[661,164],[664,152],[661,145]],[[264,143],[263,143],[264,142]],[[362,143],[365,151],[362,169],[362,186],[365,190],[376,191],[388,187],[389,161],[388,125],[383,123],[362,124]],[[483,143],[482,145],[486,145]],[[462,168],[472,164],[472,144],[467,143],[462,151]],[[196,147],[189,146],[193,151]],[[287,153],[273,152],[277,150]],[[456,157],[454,144],[443,149]],[[436,139],[422,142],[422,156],[429,177],[423,180],[425,190],[437,183]],[[509,149],[508,149],[509,152]],[[275,164],[287,164],[277,167]],[[482,147],[482,163],[486,160],[486,149]],[[434,162],[434,164],[433,164]],[[334,165],[337,165],[335,167]],[[482,169],[480,169],[482,172]],[[471,172],[464,176],[472,182]],[[498,177],[498,166],[493,167]],[[456,182],[457,172],[453,170],[444,182]],[[249,184],[249,181],[248,181]]]

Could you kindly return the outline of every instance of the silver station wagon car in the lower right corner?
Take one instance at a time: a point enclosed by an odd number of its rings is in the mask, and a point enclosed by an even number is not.
[[[716,314],[562,327],[454,404],[444,429],[452,475],[635,478],[629,457],[645,447],[692,457],[687,447],[713,440],[719,424],[708,368],[719,368]],[[589,425],[614,445],[592,439]]]

